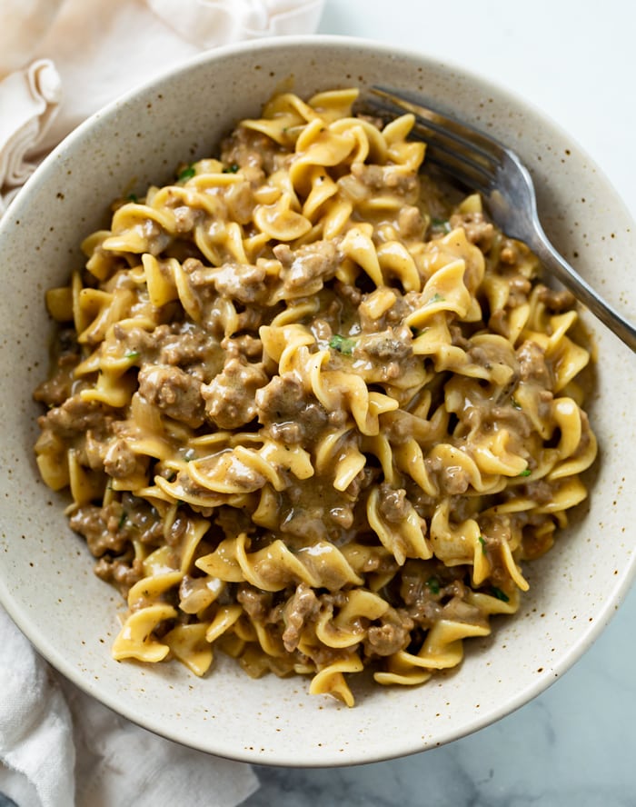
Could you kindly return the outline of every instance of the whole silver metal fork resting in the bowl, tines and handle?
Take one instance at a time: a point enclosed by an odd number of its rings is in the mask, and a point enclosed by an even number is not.
[[[591,288],[543,232],[532,177],[517,154],[490,135],[422,106],[402,92],[375,86],[371,94],[364,99],[366,112],[415,115],[413,134],[426,142],[426,161],[465,187],[479,191],[495,224],[505,234],[528,244],[571,294],[636,351],[634,325]]]

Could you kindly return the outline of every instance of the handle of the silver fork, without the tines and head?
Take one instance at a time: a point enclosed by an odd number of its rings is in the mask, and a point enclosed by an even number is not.
[[[535,223],[536,237],[531,244],[533,252],[542,261],[545,267],[552,271],[557,280],[565,286],[574,296],[586,305],[601,323],[607,325],[613,334],[616,334],[621,341],[636,352],[636,327],[619,314],[610,304],[606,303],[589,284],[583,280],[571,265],[559,254],[548,237],[543,232],[540,224]]]

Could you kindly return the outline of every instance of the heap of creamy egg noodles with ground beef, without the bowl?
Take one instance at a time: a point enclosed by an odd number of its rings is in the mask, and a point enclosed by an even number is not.
[[[357,95],[275,95],[47,294],[37,463],[126,598],[117,660],[422,683],[586,497],[573,299]]]

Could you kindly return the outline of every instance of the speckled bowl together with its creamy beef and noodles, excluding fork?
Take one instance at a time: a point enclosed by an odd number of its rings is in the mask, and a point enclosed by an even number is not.
[[[0,224],[2,603],[84,691],[237,760],[476,731],[565,673],[633,576],[629,350],[374,85],[512,145],[618,302],[633,224],[569,134],[346,38],[145,85]]]

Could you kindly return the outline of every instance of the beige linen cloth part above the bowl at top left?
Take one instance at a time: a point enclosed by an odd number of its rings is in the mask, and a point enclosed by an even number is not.
[[[322,11],[323,0],[0,0],[0,214],[118,95],[217,45],[311,34]]]

